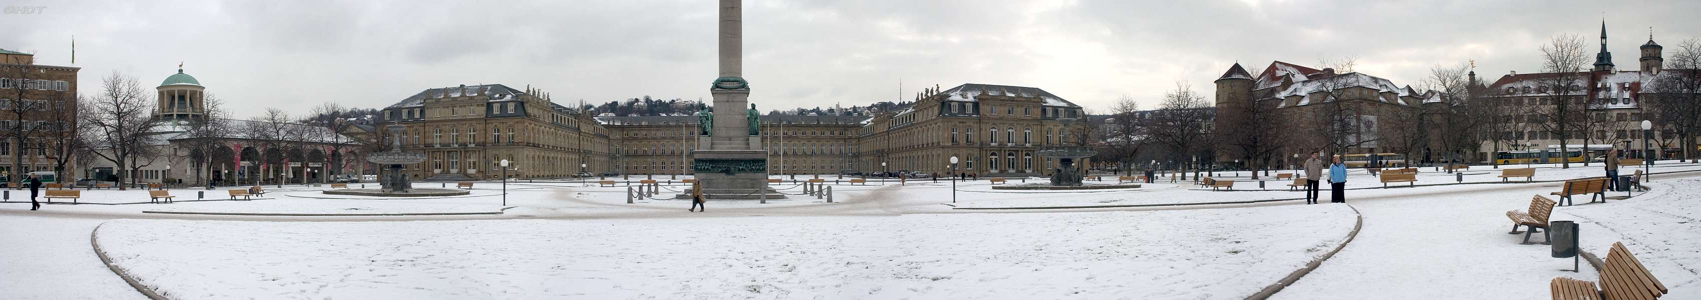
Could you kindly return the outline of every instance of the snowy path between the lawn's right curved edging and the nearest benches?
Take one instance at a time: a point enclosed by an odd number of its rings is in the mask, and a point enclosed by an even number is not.
[[[1696,176],[1670,175],[1670,176]],[[1519,244],[1505,210],[1562,183],[1432,188],[1434,193],[1352,200],[1364,229],[1317,271],[1272,298],[1550,298],[1553,276],[1594,278],[1570,269],[1550,246]],[[1449,192],[1453,190],[1453,192]],[[1589,205],[1582,205],[1589,207]],[[1560,207],[1565,212],[1573,207]],[[1539,236],[1531,241],[1541,241]]]

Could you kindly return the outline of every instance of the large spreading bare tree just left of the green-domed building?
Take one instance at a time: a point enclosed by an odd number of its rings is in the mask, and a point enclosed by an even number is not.
[[[87,153],[117,166],[117,180],[124,181],[128,173],[138,168],[138,159],[150,158],[151,146],[148,132],[158,125],[153,122],[153,100],[150,92],[133,76],[119,71],[100,80],[102,92],[78,105],[80,139]],[[122,190],[124,185],[119,185]]]

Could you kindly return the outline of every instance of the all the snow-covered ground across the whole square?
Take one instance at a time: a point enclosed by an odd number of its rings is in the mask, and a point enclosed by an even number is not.
[[[1653,168],[1655,173],[1681,169],[1701,169],[1701,166],[1662,161]],[[1624,173],[1630,171],[1624,168]],[[1599,164],[1573,166],[1572,169],[1543,168],[1538,169],[1536,180],[1599,176],[1599,173],[1602,173]],[[1499,181],[1493,178],[1495,175],[1499,171],[1471,169],[1466,171],[1465,178],[1466,181]],[[808,178],[799,176],[798,180]],[[1425,180],[1420,181],[1422,185],[1453,181],[1453,175],[1429,169],[1419,178]],[[1701,202],[1696,202],[1701,198],[1701,185],[1698,185],[1701,180],[1696,178],[1701,178],[1701,171],[1657,175],[1650,183],[1655,186],[1653,192],[1636,192],[1635,198],[1609,203],[1560,207],[1553,219],[1582,222],[1584,246],[1597,254],[1604,254],[1614,241],[1626,242],[1643,264],[1648,264],[1672,288],[1672,295],[1667,298],[1701,298],[1698,297],[1701,295],[1701,286],[1698,286],[1701,281],[1696,280],[1701,278],[1696,276],[1696,269],[1701,268],[1701,253],[1696,251],[1701,249],[1701,231],[1698,231],[1698,224],[1701,224],[1698,222],[1701,219],[1698,205]],[[633,181],[636,180],[641,176],[633,176]],[[658,180],[662,178],[658,176]],[[832,183],[839,178],[823,176],[823,180]],[[422,183],[422,186],[435,185]],[[1245,256],[1204,256],[1215,254],[1213,251],[1233,251],[1220,247],[1221,244],[1211,244],[1208,237],[1218,236],[1230,241],[1247,237],[1250,242],[1276,241],[1277,237],[1281,241],[1318,241],[1342,236],[1335,232],[1334,224],[1306,225],[1310,222],[1339,222],[1337,215],[1315,214],[1327,214],[1340,205],[1298,205],[1300,200],[1283,200],[1303,197],[1301,192],[1286,192],[1283,185],[1286,183],[1276,185],[1272,181],[1267,192],[1242,192],[1254,188],[1255,183],[1240,183],[1237,192],[1198,190],[1191,183],[1155,183],[1114,192],[1007,192],[990,190],[987,180],[971,180],[958,185],[956,203],[953,203],[949,181],[910,180],[907,185],[898,185],[898,181],[832,185],[835,203],[827,203],[813,197],[796,195],[801,193],[801,188],[788,181],[777,188],[793,193],[789,200],[769,203],[716,200],[709,202],[708,212],[686,212],[689,202],[667,200],[680,186],[663,186],[663,193],[657,198],[636,198],[634,203],[626,203],[628,186],[510,181],[507,205],[515,208],[509,208],[502,215],[420,217],[167,215],[141,214],[141,210],[301,214],[367,208],[452,212],[503,207],[502,185],[480,181],[466,197],[425,198],[323,195],[318,193],[323,188],[291,185],[286,188],[267,186],[272,193],[264,200],[252,202],[187,202],[187,198],[194,198],[194,192],[201,190],[172,190],[180,198],[177,203],[46,205],[43,212],[29,212],[29,203],[0,203],[0,254],[7,254],[0,258],[0,281],[5,281],[0,285],[0,295],[3,295],[0,298],[139,297],[100,266],[90,253],[88,232],[95,224],[109,219],[267,220],[174,220],[162,224],[124,220],[114,224],[133,224],[131,227],[138,229],[131,231],[138,234],[136,237],[155,237],[153,241],[138,239],[134,242],[138,249],[174,249],[146,251],[172,256],[160,258],[165,261],[189,259],[191,254],[197,254],[194,258],[206,258],[218,264],[242,264],[248,259],[267,263],[250,268],[252,271],[242,269],[238,273],[218,273],[223,271],[221,268],[208,268],[202,273],[179,268],[185,271],[155,276],[158,280],[196,281],[196,278],[228,275],[228,280],[240,281],[252,280],[253,271],[315,269],[316,273],[287,275],[308,280],[279,281],[277,285],[294,288],[291,292],[301,295],[338,298],[517,298],[524,295],[541,295],[538,298],[643,298],[646,295],[655,298],[1063,298],[1070,297],[1065,293],[1075,290],[1082,292],[1077,295],[1078,298],[1240,298],[1250,295],[1250,290],[1267,285],[1254,281],[1274,283],[1272,278],[1286,276],[1296,268],[1296,264],[1286,269],[1267,266],[1303,263],[1305,259],[1277,259],[1274,256],[1284,254],[1257,253],[1281,253],[1294,247],[1255,242],[1242,249],[1243,254],[1259,254],[1255,263],[1237,259]],[[1371,176],[1356,175],[1349,186],[1364,190],[1349,190],[1347,202],[1364,214],[1364,231],[1342,253],[1296,285],[1276,293],[1276,298],[1546,298],[1546,283],[1553,276],[1596,280],[1597,275],[1587,266],[1582,273],[1560,271],[1570,268],[1570,259],[1548,258],[1548,246],[1522,246],[1517,244],[1522,236],[1505,234],[1510,229],[1510,220],[1504,217],[1505,210],[1524,208],[1531,195],[1556,192],[1560,185],[1550,181],[1368,188],[1381,185]],[[146,202],[146,192],[141,190],[83,193],[85,202]],[[14,190],[12,200],[19,200],[19,195]],[[223,195],[223,192],[209,192],[208,198],[214,198],[214,195]],[[1618,197],[1623,192],[1611,195]],[[963,207],[1245,200],[1277,202],[1203,207],[961,210]],[[143,232],[141,229],[150,231]],[[1288,232],[1289,229],[1305,231]],[[383,237],[386,234],[396,237]],[[633,242],[638,239],[660,242]],[[296,244],[277,249],[253,246],[284,242]],[[1048,247],[1036,247],[1041,244]],[[201,246],[206,249],[184,249]],[[1056,246],[1070,246],[1073,251],[1056,251],[1060,249]],[[1162,246],[1189,246],[1194,251],[1177,253],[1172,249],[1179,247]],[[425,251],[429,247],[446,251]],[[304,259],[306,263],[279,259],[299,256],[293,253],[327,253],[327,256],[325,259]],[[359,256],[350,259],[350,256],[337,256],[338,253]],[[538,254],[536,258],[514,258],[521,259],[514,263],[483,258],[490,253]],[[412,256],[422,256],[417,261],[430,264],[408,263],[408,259],[415,259]],[[811,256],[825,259],[805,259]],[[1192,256],[1198,258],[1152,261]],[[456,263],[463,259],[468,263]],[[864,268],[839,266],[847,261],[861,261],[856,266]],[[320,268],[338,264],[361,264],[376,271]],[[556,266],[561,269],[551,269]],[[793,268],[793,273],[798,275],[771,271],[779,268]],[[640,276],[660,273],[658,269],[667,271],[667,275],[658,276],[660,280]],[[924,271],[895,273],[885,269]],[[401,276],[407,271],[442,275],[442,278]],[[338,280],[333,278],[333,273],[361,280],[337,281],[345,283],[338,286],[332,285]],[[1089,280],[1084,275],[1094,275],[1094,278]],[[1198,280],[1206,275],[1211,280]],[[1235,275],[1235,278],[1223,280],[1225,275]],[[958,285],[936,285],[930,278],[913,280],[915,276],[949,276],[939,281]],[[1262,280],[1249,280],[1254,276]],[[1106,278],[1119,280],[1109,281]],[[260,278],[260,281],[264,280],[267,278]],[[68,285],[75,285],[77,290],[65,288]],[[405,285],[439,290],[395,293],[395,297],[328,293]],[[1019,290],[1017,293],[987,292],[1000,286],[1021,288],[1010,288]],[[1153,286],[1180,286],[1186,292],[1150,290]],[[209,292],[192,295],[206,298],[213,295],[211,290],[223,290],[204,288]],[[869,295],[868,292],[873,288],[881,288],[881,292]],[[270,288],[270,292],[276,290]],[[247,292],[221,292],[219,295]]]

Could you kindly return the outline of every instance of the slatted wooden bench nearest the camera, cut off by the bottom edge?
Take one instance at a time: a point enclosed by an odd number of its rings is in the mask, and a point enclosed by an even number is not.
[[[1601,290],[1596,290],[1599,286]],[[1636,256],[1630,254],[1624,242],[1613,242],[1606,261],[1601,263],[1601,281],[1584,281],[1556,276],[1548,283],[1553,300],[1619,300],[1638,298],[1653,300],[1669,293],[1665,285],[1648,271]]]

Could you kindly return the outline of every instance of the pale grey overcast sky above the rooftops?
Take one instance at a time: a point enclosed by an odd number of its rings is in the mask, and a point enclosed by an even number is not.
[[[321,102],[386,107],[424,88],[478,83],[544,88],[563,105],[696,100],[709,98],[716,78],[714,0],[5,5],[0,47],[83,68],[83,95],[112,71],[158,85],[184,61],[238,117],[267,107],[306,114]],[[1359,56],[1356,71],[1414,86],[1431,66],[1468,59],[1487,80],[1534,73],[1548,37],[1594,44],[1602,15],[1614,63],[1635,68],[1648,27],[1667,46],[1701,37],[1696,12],[1694,0],[748,0],[745,78],[762,110],[993,83],[1104,112],[1121,95],[1155,107],[1175,81],[1209,95],[1235,61],[1313,66]]]

